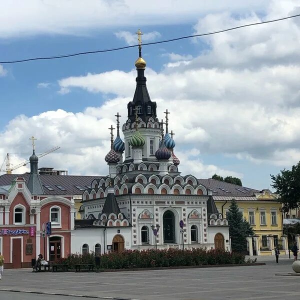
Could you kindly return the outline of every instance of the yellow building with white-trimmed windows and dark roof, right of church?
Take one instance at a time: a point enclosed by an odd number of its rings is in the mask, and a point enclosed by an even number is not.
[[[226,215],[234,198],[243,217],[254,230],[254,237],[248,237],[250,255],[274,254],[276,246],[287,253],[287,237],[283,235],[281,204],[277,195],[268,189],[256,190],[215,179],[199,179],[210,188],[216,207]],[[208,182],[209,181],[209,182]]]

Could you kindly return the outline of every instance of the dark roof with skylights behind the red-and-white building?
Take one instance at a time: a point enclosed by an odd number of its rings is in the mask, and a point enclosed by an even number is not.
[[[29,175],[30,174],[0,175],[0,186],[12,184],[13,179],[19,176],[24,177],[26,183],[28,183]],[[106,176],[39,175],[44,194],[46,195],[81,195],[94,179],[101,179],[102,177],[106,178]],[[58,186],[62,186],[62,188]],[[82,187],[83,190],[80,190],[76,186]]]

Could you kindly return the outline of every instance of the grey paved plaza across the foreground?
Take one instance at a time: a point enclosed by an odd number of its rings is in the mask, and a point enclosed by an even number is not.
[[[30,269],[11,269],[5,270],[0,281],[0,299],[63,299],[61,296],[6,292],[3,289],[140,300],[300,298],[300,276],[275,276],[275,273],[291,272],[292,259],[285,256],[279,264],[274,262],[274,256],[259,257],[259,260],[265,260],[266,265],[102,273],[32,273]]]

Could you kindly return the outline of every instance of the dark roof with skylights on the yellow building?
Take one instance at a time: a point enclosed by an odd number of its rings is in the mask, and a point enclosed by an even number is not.
[[[198,182],[208,189],[208,181],[212,195],[217,196],[253,196],[254,193],[260,192],[258,189],[240,186],[233,183],[219,181],[216,179],[198,179]]]

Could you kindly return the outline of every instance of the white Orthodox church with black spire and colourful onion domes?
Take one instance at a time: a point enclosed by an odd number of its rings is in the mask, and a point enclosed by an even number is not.
[[[127,120],[116,116],[116,137],[105,161],[108,175],[95,178],[82,195],[81,220],[75,220],[71,252],[221,247],[230,250],[228,222],[218,212],[209,185],[180,175],[168,114],[159,121],[139,57],[136,88],[127,104]]]

